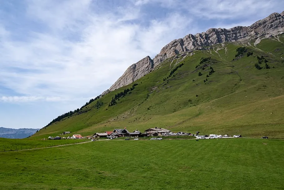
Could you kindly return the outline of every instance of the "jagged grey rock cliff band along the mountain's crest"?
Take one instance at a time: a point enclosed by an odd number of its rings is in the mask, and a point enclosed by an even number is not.
[[[109,91],[118,89],[140,79],[145,74],[154,70],[165,59],[171,58],[177,54],[189,53],[196,49],[203,49],[204,46],[224,42],[257,39],[257,42],[259,43],[262,38],[277,35],[279,33],[284,33],[284,11],[281,14],[272,13],[267,18],[259,20],[248,27],[237,26],[230,29],[210,28],[203,33],[197,33],[195,35],[188,34],[184,38],[175,39],[164,46],[153,60],[147,56],[131,65],[110,87]]]

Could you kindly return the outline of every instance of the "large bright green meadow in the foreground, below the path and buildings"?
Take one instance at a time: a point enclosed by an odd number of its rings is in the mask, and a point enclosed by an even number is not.
[[[0,189],[284,189],[284,141],[94,141],[0,152]]]

